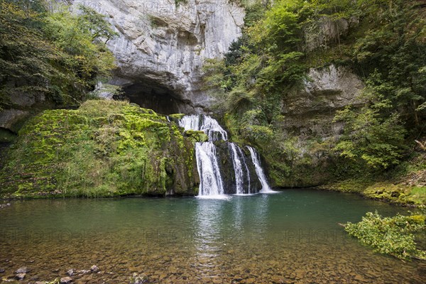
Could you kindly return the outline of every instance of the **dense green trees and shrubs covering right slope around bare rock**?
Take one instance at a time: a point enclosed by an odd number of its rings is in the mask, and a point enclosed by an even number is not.
[[[206,82],[235,139],[256,144],[276,180],[297,178],[300,170],[312,173],[302,184],[320,182],[321,175],[383,175],[409,157],[407,146],[423,135],[426,117],[426,25],[417,1],[279,0],[244,7],[243,35],[224,60],[208,62]],[[300,139],[305,145],[295,145],[299,133],[284,122],[286,99],[300,92],[308,68],[332,63],[354,70],[367,87],[356,106],[337,112],[334,123],[345,125],[339,141],[310,133]]]

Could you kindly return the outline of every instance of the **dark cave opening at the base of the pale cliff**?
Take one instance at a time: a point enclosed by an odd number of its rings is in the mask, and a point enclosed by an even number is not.
[[[177,99],[177,95],[162,86],[154,84],[135,83],[123,87],[125,96],[134,104],[152,109],[158,114],[179,114],[187,109],[188,103]]]

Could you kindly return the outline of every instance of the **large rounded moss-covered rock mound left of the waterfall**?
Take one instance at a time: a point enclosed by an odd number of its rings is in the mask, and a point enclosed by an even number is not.
[[[0,173],[2,197],[197,195],[197,135],[126,102],[50,110],[19,131]]]

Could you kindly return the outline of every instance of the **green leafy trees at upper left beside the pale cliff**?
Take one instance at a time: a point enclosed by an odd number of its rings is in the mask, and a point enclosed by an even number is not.
[[[114,57],[105,43],[116,33],[84,6],[50,12],[45,1],[0,1],[0,108],[15,94],[45,94],[55,104],[79,104]],[[63,8],[63,7],[62,7]]]

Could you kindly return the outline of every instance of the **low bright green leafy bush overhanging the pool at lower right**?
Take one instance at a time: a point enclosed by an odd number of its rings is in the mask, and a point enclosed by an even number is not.
[[[417,249],[414,235],[425,232],[425,219],[425,215],[381,217],[377,211],[368,212],[361,222],[347,223],[345,230],[379,253],[401,259],[426,259],[426,251]]]

